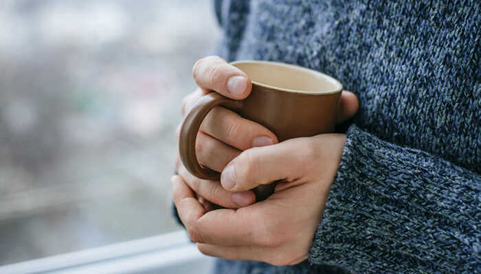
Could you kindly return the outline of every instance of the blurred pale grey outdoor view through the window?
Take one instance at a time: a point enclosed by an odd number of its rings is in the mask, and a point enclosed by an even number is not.
[[[211,0],[0,1],[0,265],[172,232]]]

